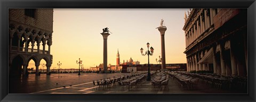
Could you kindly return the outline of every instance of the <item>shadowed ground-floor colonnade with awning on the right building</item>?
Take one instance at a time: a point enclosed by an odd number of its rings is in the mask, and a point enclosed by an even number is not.
[[[213,73],[221,76],[247,76],[247,53],[245,53],[247,52],[247,47],[243,47],[244,45],[247,44],[233,39],[212,45],[209,48],[213,50],[211,52],[209,49],[197,51],[187,57],[187,71],[203,70],[213,71]],[[205,57],[207,51],[209,51],[212,61],[198,63]]]

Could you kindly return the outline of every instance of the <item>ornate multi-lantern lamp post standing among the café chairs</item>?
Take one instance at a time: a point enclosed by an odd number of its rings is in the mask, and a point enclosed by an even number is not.
[[[147,48],[148,51],[146,51],[145,54],[143,54],[143,49],[140,49],[141,55],[145,56],[148,55],[148,77],[147,77],[147,81],[150,81],[151,77],[150,77],[150,68],[149,68],[149,55],[153,55],[154,53],[154,48],[150,47],[150,51],[149,51],[149,43],[147,43]]]

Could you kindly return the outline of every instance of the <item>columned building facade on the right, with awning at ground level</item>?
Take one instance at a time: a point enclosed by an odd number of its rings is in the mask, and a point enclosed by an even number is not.
[[[183,30],[187,71],[247,76],[247,9],[193,8]]]

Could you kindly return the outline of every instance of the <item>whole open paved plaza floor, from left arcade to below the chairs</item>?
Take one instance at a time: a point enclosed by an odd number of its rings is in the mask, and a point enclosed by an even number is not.
[[[130,73],[60,73],[46,76],[29,75],[20,81],[9,82],[9,93],[25,94],[235,94],[235,91],[211,88],[199,81],[193,89],[179,87],[176,80],[170,78],[167,87],[152,89],[150,81],[143,81],[141,85],[133,88],[122,87],[116,82],[108,88],[93,88],[92,80],[112,78]],[[58,84],[57,84],[58,83]],[[70,86],[71,85],[71,86]],[[65,86],[65,87],[64,87]]]

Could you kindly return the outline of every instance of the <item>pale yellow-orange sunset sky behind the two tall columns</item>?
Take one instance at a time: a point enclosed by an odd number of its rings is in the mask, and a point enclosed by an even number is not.
[[[166,63],[186,63],[184,13],[185,8],[57,8],[53,9],[53,33],[51,54],[52,68],[78,68],[76,60],[83,61],[84,69],[103,63],[102,29],[111,32],[107,39],[108,64],[116,65],[117,49],[120,62],[130,58],[148,63],[140,49],[147,50],[147,43],[154,53],[150,63],[157,64],[161,55],[161,35],[156,27],[164,20]],[[46,47],[46,49],[48,49]],[[33,63],[33,60],[30,61]],[[45,63],[44,60],[40,62]],[[41,68],[40,66],[39,68]],[[30,68],[30,67],[28,67]]]

